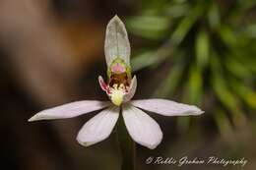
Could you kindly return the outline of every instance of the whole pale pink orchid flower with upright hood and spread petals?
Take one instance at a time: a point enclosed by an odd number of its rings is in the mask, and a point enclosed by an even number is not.
[[[107,25],[104,54],[107,64],[107,82],[101,76],[98,83],[110,101],[83,100],[42,110],[29,120],[72,118],[103,109],[80,130],[77,141],[89,146],[105,140],[112,132],[119,114],[134,142],[148,148],[156,148],[162,140],[159,124],[143,110],[163,116],[200,115],[201,109],[166,99],[131,100],[137,88],[136,76],[132,78],[130,43],[121,20],[115,16]]]

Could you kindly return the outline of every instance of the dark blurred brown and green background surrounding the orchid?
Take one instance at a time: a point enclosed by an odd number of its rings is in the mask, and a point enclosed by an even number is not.
[[[126,24],[135,98],[196,104],[200,117],[151,114],[163,131],[154,150],[137,145],[138,169],[256,167],[256,2],[254,0],[1,0],[1,169],[114,170],[115,132],[90,147],[76,142],[94,113],[28,123],[39,110],[82,99],[107,99],[103,38],[117,14]],[[147,165],[149,156],[244,157],[244,166]]]

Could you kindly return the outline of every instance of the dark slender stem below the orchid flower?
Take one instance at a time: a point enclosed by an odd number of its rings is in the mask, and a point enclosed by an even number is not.
[[[120,109],[120,116],[122,109]],[[123,118],[118,120],[117,136],[122,155],[121,170],[135,170],[135,142],[129,136]]]

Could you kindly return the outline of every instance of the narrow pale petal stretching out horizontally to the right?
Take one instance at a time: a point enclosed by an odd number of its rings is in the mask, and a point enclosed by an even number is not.
[[[187,116],[204,113],[204,111],[194,105],[177,103],[166,99],[133,100],[131,104],[164,116]]]

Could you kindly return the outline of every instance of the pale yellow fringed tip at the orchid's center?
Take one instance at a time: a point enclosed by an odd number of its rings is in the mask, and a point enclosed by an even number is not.
[[[125,87],[123,84],[117,85],[114,84],[112,87],[110,87],[110,99],[111,101],[119,106],[123,102],[123,97],[125,95]]]

